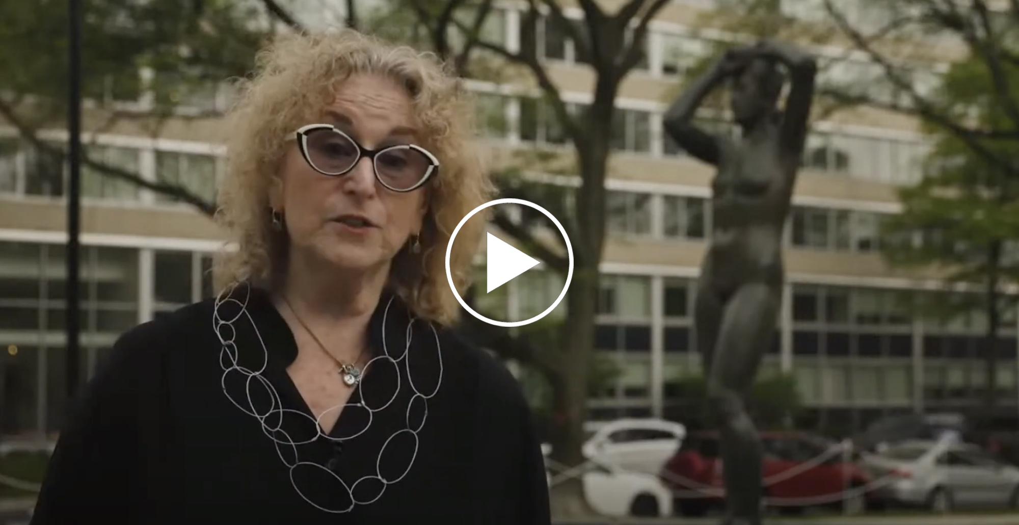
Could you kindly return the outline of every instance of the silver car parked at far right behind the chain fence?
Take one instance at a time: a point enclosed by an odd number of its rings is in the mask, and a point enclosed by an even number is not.
[[[1019,469],[974,444],[910,440],[863,457],[888,503],[927,507],[1017,508]]]

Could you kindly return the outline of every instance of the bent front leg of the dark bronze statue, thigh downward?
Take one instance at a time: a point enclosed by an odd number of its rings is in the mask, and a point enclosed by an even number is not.
[[[734,525],[760,523],[761,444],[744,396],[770,344],[781,301],[781,290],[764,283],[745,284],[730,298],[707,377],[720,425],[728,523]]]

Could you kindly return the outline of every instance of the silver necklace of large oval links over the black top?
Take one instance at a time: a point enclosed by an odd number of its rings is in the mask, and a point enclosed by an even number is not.
[[[243,290],[238,290],[242,286]],[[431,323],[425,323],[422,329],[431,333],[431,337],[426,337],[427,339],[434,340],[434,356],[438,366],[438,374],[433,387],[422,389],[420,388],[422,386],[420,383],[421,378],[419,377],[417,380],[414,378],[415,374],[412,372],[411,357],[409,356],[413,340],[416,338],[415,332],[419,331],[413,329],[414,324],[418,320],[412,316],[407,321],[406,327],[390,326],[389,323],[392,321],[388,321],[387,319],[389,317],[389,309],[393,306],[393,299],[389,299],[382,311],[379,355],[372,357],[365,364],[365,368],[371,366],[392,366],[394,371],[396,371],[397,378],[395,391],[384,403],[378,403],[377,401],[372,403],[359,397],[359,401],[357,402],[347,402],[329,409],[336,410],[342,408],[342,410],[356,410],[367,416],[359,418],[362,421],[360,428],[353,429],[352,433],[347,435],[334,436],[322,431],[321,416],[316,418],[302,411],[284,408],[282,397],[276,391],[272,383],[262,376],[262,373],[269,366],[269,349],[266,347],[265,339],[263,339],[260,333],[255,317],[248,312],[249,301],[252,297],[251,294],[252,288],[250,285],[239,282],[233,283],[220,293],[213,307],[212,324],[216,337],[220,343],[219,363],[223,369],[223,376],[220,382],[222,383],[223,395],[243,413],[255,417],[262,427],[262,432],[273,442],[279,459],[289,471],[291,486],[309,505],[322,512],[344,514],[354,510],[356,506],[371,505],[377,502],[382,496],[386,487],[404,479],[414,466],[419,445],[421,444],[418,433],[424,428],[425,422],[428,419],[429,401],[438,393],[442,385],[442,345],[435,326]],[[236,347],[236,337],[237,332],[242,329],[250,330],[254,337],[258,339],[262,359],[254,363],[254,368],[248,368],[240,363],[240,352]],[[386,340],[387,329],[392,330],[389,336],[389,345],[387,345]],[[396,342],[397,348],[403,348],[403,352],[390,354],[389,346],[393,343],[391,340],[392,335],[398,331],[406,332],[406,338]],[[400,377],[404,377],[404,379],[399,379]],[[231,389],[227,386],[228,383],[239,385],[239,387]],[[357,388],[361,386],[363,386],[362,383],[355,385]],[[332,462],[326,465],[319,465],[301,459],[299,449],[313,441],[322,439],[333,443],[343,443],[346,440],[364,434],[372,425],[376,414],[386,411],[387,408],[394,405],[398,395],[404,391],[403,388],[410,388],[410,399],[407,401],[407,408],[393,407],[388,410],[399,411],[397,414],[393,414],[395,417],[399,417],[399,413],[405,413],[406,426],[395,430],[388,438],[382,441],[375,460],[374,471],[365,473],[360,478],[352,479],[344,475],[346,474],[345,472],[338,470],[337,465],[331,464]],[[253,396],[253,391],[258,392],[260,389],[263,396]],[[261,402],[257,400],[261,400]],[[265,400],[268,400],[268,402]],[[287,431],[282,430],[284,417],[289,421]],[[302,434],[300,432],[302,425],[307,425],[311,429],[310,437],[299,437]],[[396,441],[400,441],[401,444],[392,444]],[[390,444],[394,448],[410,448],[410,459],[406,465],[400,464],[398,460],[395,463],[391,461],[383,462],[383,456],[389,458],[400,457],[399,454],[393,456],[393,453],[387,453],[390,450]],[[325,483],[330,495],[323,497],[321,492],[317,491],[313,497],[312,493],[305,493],[305,488],[303,487],[310,486],[307,479],[312,475],[315,476],[315,486],[321,487],[322,483]],[[299,480],[304,482],[298,483]]]

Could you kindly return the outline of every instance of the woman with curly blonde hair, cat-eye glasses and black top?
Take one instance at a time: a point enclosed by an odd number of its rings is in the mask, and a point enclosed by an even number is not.
[[[514,377],[446,328],[449,232],[491,193],[472,107],[354,32],[260,54],[227,127],[231,284],[120,337],[33,523],[549,523]]]

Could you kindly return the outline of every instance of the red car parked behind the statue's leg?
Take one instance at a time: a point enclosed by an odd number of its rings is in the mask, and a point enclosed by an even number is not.
[[[802,432],[763,432],[763,488],[768,507],[802,510],[830,506],[858,513],[869,507],[870,475],[824,438]],[[702,516],[723,497],[717,432],[694,432],[662,468],[675,509]]]

